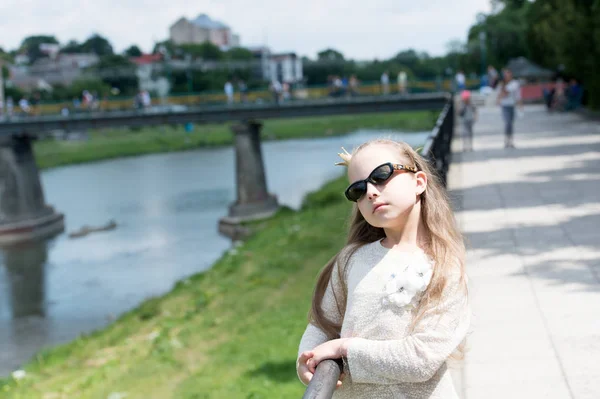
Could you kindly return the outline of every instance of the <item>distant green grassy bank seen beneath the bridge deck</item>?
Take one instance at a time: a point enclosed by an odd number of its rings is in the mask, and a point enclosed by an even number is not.
[[[344,134],[356,129],[428,130],[433,127],[438,111],[343,115],[296,119],[268,120],[262,136],[265,140],[318,137]],[[38,167],[93,162],[103,159],[200,147],[231,144],[229,125],[198,125],[186,133],[182,126],[110,129],[90,132],[86,141],[43,140],[34,144]]]

